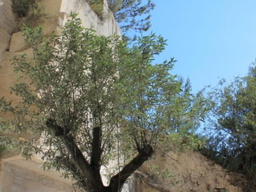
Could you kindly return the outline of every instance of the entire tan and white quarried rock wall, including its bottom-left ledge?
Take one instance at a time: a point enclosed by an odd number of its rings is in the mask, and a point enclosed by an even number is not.
[[[112,12],[104,0],[102,19],[93,12],[86,0],[40,0],[45,6],[46,18],[44,35],[48,36],[53,30],[58,32],[67,22],[70,12],[78,13],[85,28],[92,27],[101,35],[120,35],[118,24],[114,21]],[[0,0],[0,98],[12,100],[15,105],[20,98],[10,94],[10,86],[16,82],[16,73],[11,59],[17,54],[26,53],[32,58],[32,48],[24,44],[24,36],[18,31],[10,0]],[[12,118],[13,114],[1,114],[2,118]],[[26,138],[26,135],[24,136]],[[10,157],[11,156],[11,157]],[[0,156],[0,192],[71,192],[71,181],[60,178],[58,172],[43,172],[40,168],[42,161],[37,158],[26,161],[20,156],[7,154]],[[105,181],[106,182],[106,181]],[[134,186],[134,184],[132,184]],[[124,191],[130,191],[131,184],[126,184]]]

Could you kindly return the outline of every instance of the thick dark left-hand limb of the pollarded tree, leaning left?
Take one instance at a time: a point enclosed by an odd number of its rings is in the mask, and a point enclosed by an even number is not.
[[[64,131],[64,128],[58,126],[54,120],[48,120],[46,122],[46,126],[55,133],[56,137],[59,137],[64,142],[66,148],[74,159],[76,167],[83,176],[84,182],[86,182],[88,189],[93,191],[98,185],[95,182],[90,164],[86,161],[84,155],[76,145],[75,139],[70,133]]]

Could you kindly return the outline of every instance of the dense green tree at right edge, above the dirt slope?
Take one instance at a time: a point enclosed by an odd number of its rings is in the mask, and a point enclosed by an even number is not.
[[[208,92],[208,155],[234,172],[255,178],[256,171],[256,68],[245,77]]]

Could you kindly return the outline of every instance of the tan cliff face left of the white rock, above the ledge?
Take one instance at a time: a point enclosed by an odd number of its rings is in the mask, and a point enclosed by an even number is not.
[[[47,36],[53,30],[58,30],[59,28],[58,18],[62,0],[41,0],[40,3],[45,6],[46,18],[44,18],[41,25],[44,26],[44,35]],[[2,6],[4,6],[6,13],[10,13],[10,15],[13,16],[13,14],[11,14],[12,10],[10,0],[4,0],[4,4]],[[3,34],[6,34],[6,37],[8,38],[8,34],[14,30],[14,25],[7,27],[7,24],[4,24],[4,21],[1,23],[1,25],[2,24],[4,26],[3,28],[1,26],[2,30],[4,31]],[[23,53],[26,53],[28,58],[32,58],[33,52],[32,48],[24,44],[24,36],[22,36],[21,31],[12,33],[8,43],[7,38],[5,40],[6,43],[4,49],[2,48],[2,54],[0,54],[0,97],[2,98],[4,96],[7,100],[12,100],[12,104],[15,106],[15,104],[20,102],[20,98],[14,94],[10,94],[10,87],[13,86],[17,80],[16,73],[13,71],[14,68],[12,66],[12,58],[14,58],[14,56],[17,54]],[[13,117],[13,115],[10,113],[0,115],[6,119]]]

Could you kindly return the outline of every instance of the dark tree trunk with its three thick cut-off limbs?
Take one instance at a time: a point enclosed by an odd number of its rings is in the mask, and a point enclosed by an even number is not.
[[[109,186],[103,186],[100,177],[99,164],[100,128],[95,127],[93,131],[94,140],[92,143],[92,162],[89,164],[76,145],[75,138],[72,137],[68,130],[65,132],[64,128],[58,126],[54,120],[48,120],[46,125],[55,133],[55,136],[61,138],[66,145],[66,148],[74,160],[74,164],[72,166],[76,166],[76,168],[78,168],[81,176],[84,178],[82,181],[84,190],[89,192],[120,192],[127,178],[153,154],[152,146],[147,144],[144,148],[140,149],[139,154],[133,158],[133,160],[124,166],[118,174],[111,178]]]

